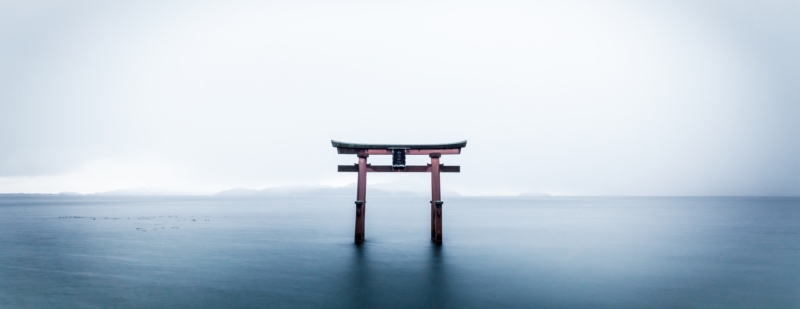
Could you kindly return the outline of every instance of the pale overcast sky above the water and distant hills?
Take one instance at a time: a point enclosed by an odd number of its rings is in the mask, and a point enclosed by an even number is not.
[[[336,139],[468,140],[442,159],[466,195],[800,195],[798,16],[798,1],[0,1],[0,192],[341,186],[356,158]]]

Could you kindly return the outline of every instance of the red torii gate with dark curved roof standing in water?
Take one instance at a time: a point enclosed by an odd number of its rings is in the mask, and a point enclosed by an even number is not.
[[[364,242],[364,223],[366,217],[367,172],[430,172],[431,173],[431,241],[442,243],[442,190],[439,185],[439,173],[459,173],[460,166],[444,166],[439,164],[439,157],[446,154],[460,154],[467,141],[451,144],[427,145],[385,145],[354,144],[331,140],[339,154],[355,154],[358,164],[339,165],[339,172],[358,172],[356,188],[356,244]],[[392,165],[367,164],[369,155],[392,155]],[[424,165],[406,165],[406,155],[428,155],[431,163]]]

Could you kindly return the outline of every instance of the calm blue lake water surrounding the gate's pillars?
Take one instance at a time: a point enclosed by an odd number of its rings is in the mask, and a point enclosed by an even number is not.
[[[800,308],[800,198],[0,197],[4,308]]]

